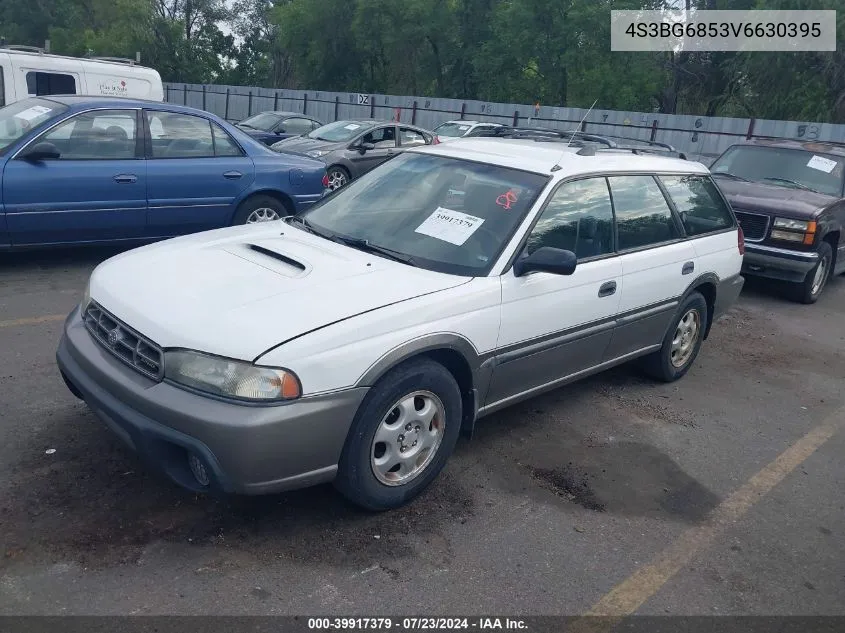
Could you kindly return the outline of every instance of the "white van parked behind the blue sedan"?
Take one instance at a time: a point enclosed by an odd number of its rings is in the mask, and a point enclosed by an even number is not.
[[[0,106],[55,94],[164,101],[158,72],[131,59],[82,59],[28,46],[0,47]]]

